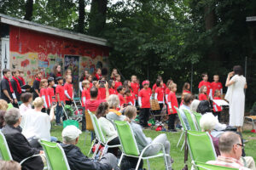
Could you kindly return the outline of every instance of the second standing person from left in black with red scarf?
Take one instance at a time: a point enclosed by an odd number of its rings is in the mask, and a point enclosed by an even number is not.
[[[15,92],[15,96],[16,96],[16,99],[18,101],[20,101],[20,95],[21,95],[21,86],[20,86],[20,82],[19,82],[19,71],[18,70],[15,70],[15,71],[12,71],[12,79],[10,80],[11,84],[12,84],[12,87],[14,89],[14,92]],[[18,104],[14,104],[15,107],[19,107]]]

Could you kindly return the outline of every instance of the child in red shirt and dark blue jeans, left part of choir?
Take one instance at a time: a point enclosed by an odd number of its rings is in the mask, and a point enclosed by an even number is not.
[[[55,89],[56,93],[56,100],[57,100],[57,105],[56,105],[56,125],[61,126],[61,116],[63,114],[63,109],[62,105],[65,104],[65,94],[64,94],[64,87],[62,86],[63,84],[63,78],[62,77],[57,77],[56,81],[58,82],[58,85]]]

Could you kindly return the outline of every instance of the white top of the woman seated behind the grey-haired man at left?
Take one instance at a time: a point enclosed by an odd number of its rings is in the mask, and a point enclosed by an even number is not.
[[[50,117],[41,111],[29,110],[22,116],[22,134],[26,139],[35,137],[50,141]]]

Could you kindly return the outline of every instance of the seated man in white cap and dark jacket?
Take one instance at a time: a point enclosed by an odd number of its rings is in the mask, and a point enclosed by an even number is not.
[[[67,156],[67,161],[71,170],[118,170],[118,161],[111,153],[102,156],[101,161],[94,161],[93,159],[84,156],[78,146],[79,135],[82,132],[78,127],[73,125],[67,126],[62,131],[63,143],[61,146]]]

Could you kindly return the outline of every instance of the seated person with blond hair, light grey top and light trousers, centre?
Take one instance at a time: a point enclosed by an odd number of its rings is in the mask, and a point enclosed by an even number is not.
[[[138,150],[140,152],[146,146],[148,146],[148,144],[160,143],[160,144],[164,145],[166,154],[170,154],[171,145],[170,145],[170,142],[167,140],[165,133],[161,133],[154,140],[152,140],[151,138],[148,138],[145,136],[145,134],[143,133],[143,128],[134,121],[134,119],[137,116],[137,109],[135,106],[128,105],[125,108],[125,116],[126,116],[125,121],[131,123],[131,128],[134,133],[135,139],[137,141]],[[145,150],[143,156],[154,156],[155,154],[157,154],[160,151],[160,149],[161,148],[159,145],[151,145],[148,147],[148,150]],[[171,170],[172,169],[172,158],[171,157],[167,157],[167,164],[168,164],[167,165],[168,169]]]

